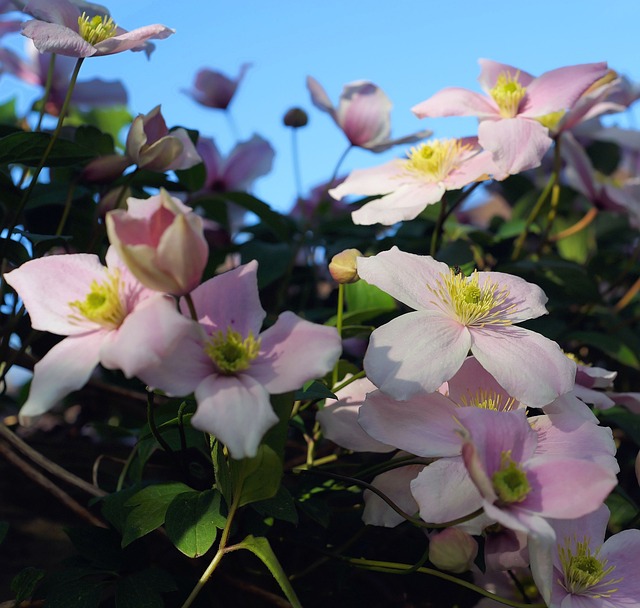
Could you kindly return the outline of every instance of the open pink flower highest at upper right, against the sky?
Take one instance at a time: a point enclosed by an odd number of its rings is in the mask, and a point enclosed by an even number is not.
[[[534,78],[510,65],[480,59],[486,95],[450,87],[413,108],[420,118],[477,116],[478,140],[509,174],[540,165],[551,147],[546,124],[571,108],[582,93],[607,74],[606,63],[574,65]]]

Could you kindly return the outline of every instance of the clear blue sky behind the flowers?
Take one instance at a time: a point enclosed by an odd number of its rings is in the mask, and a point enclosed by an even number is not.
[[[240,139],[253,133],[276,149],[273,171],[254,194],[284,211],[295,199],[291,132],[282,116],[292,106],[309,113],[298,132],[303,189],[326,180],[347,146],[331,118],[312,106],[305,86],[314,76],[337,104],[345,83],[370,80],[391,98],[392,134],[430,128],[436,137],[475,134],[473,118],[418,120],[410,111],[446,86],[479,91],[478,58],[507,63],[534,76],[576,63],[608,61],[640,80],[638,0],[152,0],[104,1],[118,25],[134,29],[163,23],[176,30],[156,41],[148,61],[125,52],[89,58],[80,80],[121,79],[131,112],[147,113],[162,104],[167,124],[198,129],[223,152],[236,142],[223,112],[198,106],[181,91],[191,87],[202,67],[235,76],[252,63],[230,109]],[[3,41],[21,49],[19,34]],[[25,110],[38,96],[12,76],[0,77],[0,102],[18,95]],[[637,111],[636,111],[637,114]],[[638,117],[616,117],[634,126]],[[345,171],[380,164],[403,153],[352,151]]]

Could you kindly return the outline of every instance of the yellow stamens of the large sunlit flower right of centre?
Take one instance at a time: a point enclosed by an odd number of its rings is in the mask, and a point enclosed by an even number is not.
[[[469,327],[485,325],[511,325],[508,318],[514,304],[506,304],[509,292],[506,288],[487,279],[480,285],[480,275],[474,271],[470,277],[450,270],[449,275],[442,275],[435,288],[427,288],[438,297],[460,323]],[[434,302],[443,309],[440,302]],[[443,310],[444,311],[444,310]]]

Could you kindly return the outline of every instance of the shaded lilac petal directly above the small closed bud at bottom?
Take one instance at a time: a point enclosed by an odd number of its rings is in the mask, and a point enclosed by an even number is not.
[[[425,467],[411,482],[411,493],[428,523],[444,523],[471,515],[482,506],[478,489],[462,459],[442,458]]]

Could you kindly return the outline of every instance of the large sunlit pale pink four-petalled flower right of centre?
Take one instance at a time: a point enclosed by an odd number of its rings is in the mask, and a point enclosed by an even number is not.
[[[544,406],[573,388],[576,364],[555,342],[514,325],[547,313],[537,285],[501,272],[465,277],[397,247],[358,258],[358,274],[415,309],[376,329],[364,358],[367,377],[395,399],[437,390],[469,350],[528,406]]]

